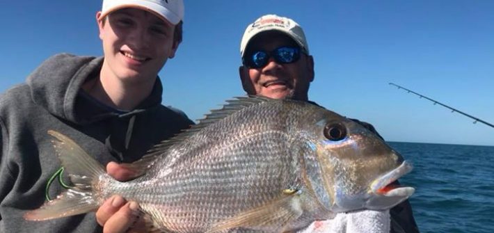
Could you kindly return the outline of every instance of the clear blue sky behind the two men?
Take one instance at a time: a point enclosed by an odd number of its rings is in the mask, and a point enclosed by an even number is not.
[[[69,52],[101,56],[101,1],[6,1],[0,14],[0,92],[42,61]],[[308,38],[316,77],[309,97],[374,124],[386,139],[494,145],[494,1],[185,1],[184,42],[160,72],[164,104],[202,118],[244,95],[239,43],[267,13],[292,17]]]

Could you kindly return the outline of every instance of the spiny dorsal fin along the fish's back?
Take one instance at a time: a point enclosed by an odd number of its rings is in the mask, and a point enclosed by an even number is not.
[[[164,151],[168,150],[171,145],[175,145],[175,143],[189,138],[189,136],[196,134],[201,129],[214,124],[215,122],[218,122],[218,120],[222,120],[223,118],[226,118],[241,109],[245,109],[249,106],[260,104],[262,102],[268,102],[270,100],[271,99],[266,97],[257,97],[254,95],[228,99],[226,100],[227,104],[224,104],[221,109],[214,109],[210,111],[210,113],[205,115],[204,118],[198,120],[198,124],[192,125],[189,129],[184,129],[184,131],[177,134],[177,136],[173,138],[164,140],[161,143],[154,145],[154,147],[148,151],[148,154],[134,163],[136,163],[136,167],[139,168],[150,168],[150,166],[155,163],[156,159],[163,154]]]

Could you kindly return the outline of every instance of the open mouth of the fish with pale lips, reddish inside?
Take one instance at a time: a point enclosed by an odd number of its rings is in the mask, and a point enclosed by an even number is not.
[[[413,166],[408,161],[401,163],[398,168],[391,170],[390,172],[382,175],[381,177],[374,179],[370,188],[372,193],[385,196],[410,196],[415,192],[415,188],[399,186],[397,184],[392,184],[399,177],[406,175],[411,172]]]

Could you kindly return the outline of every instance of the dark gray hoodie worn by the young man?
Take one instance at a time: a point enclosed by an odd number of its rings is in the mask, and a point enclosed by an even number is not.
[[[193,124],[182,112],[161,105],[159,78],[134,111],[111,109],[84,93],[82,83],[97,77],[102,61],[58,54],[26,83],[0,96],[0,232],[102,232],[94,213],[40,222],[22,218],[40,207],[45,195],[54,198],[64,190],[57,181],[47,188],[61,168],[49,129],[72,138],[106,165],[135,161]]]

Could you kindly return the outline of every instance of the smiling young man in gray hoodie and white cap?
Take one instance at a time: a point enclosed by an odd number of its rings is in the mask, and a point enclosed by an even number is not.
[[[182,41],[182,0],[104,0],[104,56],[58,54],[0,97],[0,232],[102,232],[94,214],[41,222],[27,210],[63,192],[49,129],[102,164],[132,162],[193,124],[161,105],[157,74]]]

